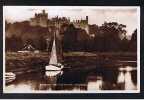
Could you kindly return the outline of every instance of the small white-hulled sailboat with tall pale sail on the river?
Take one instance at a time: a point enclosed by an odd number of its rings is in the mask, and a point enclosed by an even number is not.
[[[47,71],[60,71],[64,67],[61,63],[58,62],[55,38],[56,38],[56,36],[55,36],[55,33],[54,33],[54,40],[53,40],[49,65],[45,66],[45,69]]]

